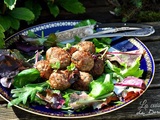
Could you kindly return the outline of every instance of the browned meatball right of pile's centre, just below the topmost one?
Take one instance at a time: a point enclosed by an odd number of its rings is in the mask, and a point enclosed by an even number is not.
[[[80,71],[90,71],[94,66],[94,59],[89,52],[76,51],[72,54],[71,61]]]

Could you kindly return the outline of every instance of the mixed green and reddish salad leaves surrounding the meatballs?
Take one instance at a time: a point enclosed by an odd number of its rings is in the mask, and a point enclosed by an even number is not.
[[[85,24],[91,24],[92,22],[85,22]],[[79,25],[84,23],[81,22]],[[78,25],[77,25],[78,26]],[[27,39],[25,39],[27,37]],[[22,36],[25,40],[33,38],[30,44],[34,44],[36,52],[34,59],[39,61],[42,57],[43,51],[52,46],[61,47],[64,50],[70,50],[73,46],[80,42],[80,38],[75,37],[73,43],[61,44],[56,42],[55,34],[50,34],[48,38],[45,38],[42,32],[41,37],[37,37],[33,32],[29,31],[28,36]],[[18,72],[13,77],[11,85],[12,100],[8,103],[8,107],[19,104],[36,103],[45,105],[52,109],[64,109],[64,110],[83,110],[86,107],[92,107],[93,109],[102,109],[103,107],[114,106],[117,104],[125,103],[139,96],[143,90],[145,90],[145,83],[142,79],[143,70],[140,69],[140,61],[145,54],[144,51],[133,50],[128,52],[112,51],[109,52],[109,48],[112,40],[110,38],[92,39],[89,40],[95,45],[95,53],[92,57],[99,58],[104,61],[104,71],[101,75],[93,77],[93,80],[88,84],[88,90],[76,90],[69,87],[65,90],[53,89],[49,80],[43,80],[40,75],[40,71],[32,67],[26,67]],[[20,49],[20,48],[19,48]],[[33,50],[27,47],[23,47],[21,50],[30,52]],[[35,47],[34,47],[35,49]],[[42,53],[41,53],[41,52]],[[24,60],[25,61],[25,60]],[[27,59],[27,62],[31,62],[33,59]],[[26,62],[26,61],[25,61]],[[56,62],[51,65],[53,72],[60,70],[60,62]],[[74,63],[71,63],[66,67],[67,71],[77,72]],[[99,71],[99,69],[97,69]],[[74,79],[76,76],[72,76]]]

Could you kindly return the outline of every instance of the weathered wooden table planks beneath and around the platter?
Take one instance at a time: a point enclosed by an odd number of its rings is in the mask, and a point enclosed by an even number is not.
[[[158,119],[160,118],[160,23],[148,23],[153,25],[156,32],[144,38],[139,38],[150,50],[155,60],[155,76],[149,89],[133,103],[111,113],[97,117],[84,118],[84,120],[98,119]],[[0,119],[23,119],[23,120],[54,120],[54,118],[34,115],[16,107],[7,108],[7,102],[0,98]],[[59,119],[60,120],[60,119]]]

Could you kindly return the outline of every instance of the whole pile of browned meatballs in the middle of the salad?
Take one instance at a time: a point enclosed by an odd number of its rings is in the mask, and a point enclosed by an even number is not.
[[[60,62],[60,68],[54,70],[51,64]],[[67,70],[70,64],[75,65],[73,71]],[[44,80],[49,80],[50,87],[56,90],[72,88],[75,90],[89,90],[89,83],[94,77],[103,74],[104,61],[95,53],[95,45],[90,41],[81,41],[65,50],[51,47],[46,51],[46,59],[35,63]]]

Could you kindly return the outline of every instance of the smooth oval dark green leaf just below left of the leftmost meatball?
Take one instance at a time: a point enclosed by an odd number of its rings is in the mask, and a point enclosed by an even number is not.
[[[21,88],[28,83],[34,82],[39,77],[40,72],[36,68],[23,70],[14,77],[13,86]]]

